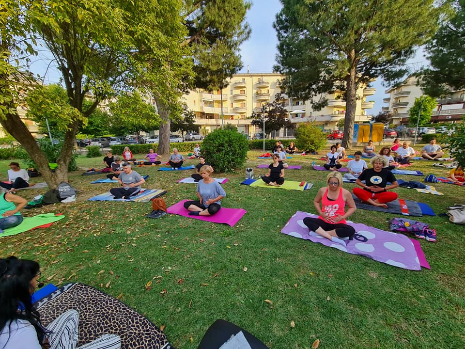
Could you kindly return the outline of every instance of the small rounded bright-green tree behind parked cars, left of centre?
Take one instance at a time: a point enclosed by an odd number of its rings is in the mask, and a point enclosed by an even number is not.
[[[157,129],[160,117],[155,107],[144,102],[138,92],[121,94],[116,102],[109,104],[110,132],[122,134],[139,134],[140,131]]]

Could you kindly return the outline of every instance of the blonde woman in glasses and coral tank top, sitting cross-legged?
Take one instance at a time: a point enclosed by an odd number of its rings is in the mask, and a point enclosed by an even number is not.
[[[342,176],[331,172],[326,176],[327,187],[320,188],[313,200],[313,206],[320,214],[318,218],[304,218],[311,236],[320,235],[345,246],[342,238],[354,238],[355,229],[346,224],[345,219],[356,211],[352,194],[342,188]],[[320,207],[321,204],[321,207]],[[344,211],[347,205],[347,211]]]

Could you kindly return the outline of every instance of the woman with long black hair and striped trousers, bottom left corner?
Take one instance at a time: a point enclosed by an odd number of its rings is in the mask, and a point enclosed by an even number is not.
[[[41,275],[39,263],[15,256],[0,259],[0,349],[74,349],[78,343],[79,315],[68,310],[47,328],[31,303]],[[86,349],[119,349],[121,339],[105,334]]]

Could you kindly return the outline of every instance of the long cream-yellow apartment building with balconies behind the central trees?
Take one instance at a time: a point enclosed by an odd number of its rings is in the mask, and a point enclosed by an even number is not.
[[[275,99],[281,92],[279,83],[283,75],[278,73],[243,73],[236,74],[228,82],[228,87],[223,91],[204,91],[197,89],[184,95],[188,108],[196,115],[196,123],[211,132],[221,127],[221,106],[223,107],[223,122],[233,124],[239,132],[253,135],[260,132],[260,127],[252,126],[252,111],[261,112],[263,104]],[[367,97],[374,95],[376,89],[367,87],[357,91],[356,123],[369,121],[371,115],[366,109],[371,109],[373,101],[367,101]],[[344,118],[345,101],[341,99],[341,93],[328,95],[328,106],[321,111],[314,111],[310,101],[293,99],[283,95],[284,105],[289,112],[292,123],[312,121],[326,129],[336,128],[339,120]],[[276,137],[292,137],[293,129],[281,129]]]

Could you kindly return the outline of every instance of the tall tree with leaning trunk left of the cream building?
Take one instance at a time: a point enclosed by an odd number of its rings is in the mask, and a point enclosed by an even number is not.
[[[187,83],[174,83],[172,91],[179,96],[186,89],[194,87],[225,88],[225,80],[242,67],[238,48],[250,35],[245,23],[247,10],[251,4],[247,0],[184,0],[183,14],[186,25],[186,40],[182,47],[190,48],[189,58],[194,62],[195,80]],[[186,80],[180,76],[180,82]],[[175,118],[177,111],[167,101],[155,97],[160,112],[160,141],[158,153],[170,151],[170,118]],[[174,110],[173,110],[174,109]]]

